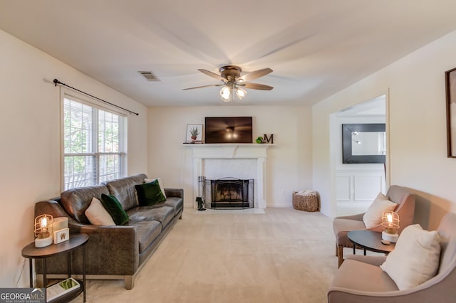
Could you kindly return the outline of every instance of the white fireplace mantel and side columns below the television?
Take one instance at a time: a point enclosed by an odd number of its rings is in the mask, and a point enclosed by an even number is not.
[[[184,144],[192,149],[193,159],[193,201],[198,194],[198,177],[204,174],[204,159],[256,159],[255,204],[254,208],[266,208],[266,158],[267,149],[274,144]],[[194,208],[197,203],[194,202]]]

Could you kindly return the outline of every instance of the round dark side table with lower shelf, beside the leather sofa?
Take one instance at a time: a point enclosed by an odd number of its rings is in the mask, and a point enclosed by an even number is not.
[[[71,299],[78,297],[81,292],[83,292],[84,302],[86,302],[86,243],[88,242],[88,235],[85,233],[73,233],[70,234],[70,239],[68,241],[52,244],[46,246],[45,248],[36,248],[35,243],[32,242],[22,249],[22,256],[28,258],[30,265],[30,287],[33,287],[33,262],[32,259],[41,259],[43,260],[43,284],[44,287],[47,287],[47,278],[46,278],[46,259],[48,257],[53,257],[60,255],[62,253],[68,253],[68,277],[71,277],[71,251],[76,250],[77,248],[83,249],[83,282],[78,292],[71,292],[68,294],[68,297],[64,294],[62,297],[58,297],[53,302],[58,302],[62,298],[68,302]],[[71,296],[71,297],[70,297]]]

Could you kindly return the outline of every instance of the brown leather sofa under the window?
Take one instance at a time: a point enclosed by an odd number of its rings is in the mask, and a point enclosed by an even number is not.
[[[160,245],[184,210],[184,191],[165,188],[167,200],[155,206],[138,206],[135,185],[144,183],[145,174],[105,182],[103,185],[73,188],[63,191],[60,198],[35,204],[35,216],[43,213],[68,217],[70,233],[86,233],[86,275],[88,279],[124,279],[125,288],[134,287],[135,275],[152,252]],[[91,225],[84,214],[92,198],[101,194],[118,198],[128,213],[125,225]],[[72,252],[72,273],[82,274],[82,252]],[[41,273],[41,262],[37,262]],[[68,275],[66,256],[47,260],[48,277]]]

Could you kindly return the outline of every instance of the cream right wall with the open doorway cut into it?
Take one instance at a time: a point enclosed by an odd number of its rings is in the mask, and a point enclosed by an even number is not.
[[[445,70],[456,67],[455,53],[456,31],[314,105],[313,178],[323,213],[333,216],[336,209],[329,116],[383,94],[389,96],[390,184],[418,193],[415,221],[424,228],[436,228],[444,213],[456,211],[456,159],[446,156],[444,78]]]

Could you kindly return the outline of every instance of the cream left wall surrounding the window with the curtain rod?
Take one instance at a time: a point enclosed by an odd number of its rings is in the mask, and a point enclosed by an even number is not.
[[[4,31],[0,45],[0,287],[28,287],[21,249],[33,241],[34,204],[61,192],[60,97],[49,81],[139,112],[128,117],[128,174],[146,171],[147,108]]]

